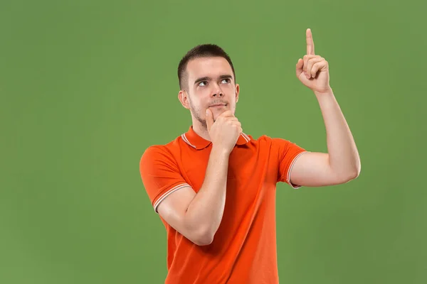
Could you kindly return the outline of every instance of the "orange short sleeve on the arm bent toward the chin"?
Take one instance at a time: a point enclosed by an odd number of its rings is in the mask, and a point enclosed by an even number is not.
[[[139,161],[142,183],[152,202],[154,211],[168,195],[183,187],[189,187],[176,165],[172,153],[162,146],[151,146]]]

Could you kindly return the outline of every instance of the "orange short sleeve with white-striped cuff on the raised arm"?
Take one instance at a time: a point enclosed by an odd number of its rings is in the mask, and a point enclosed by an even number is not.
[[[273,148],[278,151],[278,182],[286,182],[295,189],[300,188],[301,185],[295,185],[290,181],[290,172],[295,160],[300,155],[307,153],[307,151],[297,144],[282,138],[273,138]]]

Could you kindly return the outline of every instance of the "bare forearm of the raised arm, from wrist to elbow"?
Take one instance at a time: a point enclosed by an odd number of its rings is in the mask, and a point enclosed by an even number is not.
[[[325,121],[330,167],[337,175],[359,175],[357,146],[332,89],[322,94],[315,92],[315,95]]]

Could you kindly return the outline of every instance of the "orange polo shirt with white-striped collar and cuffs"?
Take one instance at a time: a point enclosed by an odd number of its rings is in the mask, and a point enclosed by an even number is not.
[[[182,187],[198,192],[211,142],[189,131],[144,151],[142,182],[154,210]],[[197,246],[162,219],[167,231],[167,284],[276,284],[275,190],[305,149],[282,138],[242,133],[228,163],[226,204],[214,241]]]

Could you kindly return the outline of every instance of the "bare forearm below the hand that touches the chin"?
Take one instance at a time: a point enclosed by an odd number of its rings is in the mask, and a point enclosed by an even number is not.
[[[223,217],[229,155],[212,148],[203,185],[186,211],[186,223],[208,239],[214,237]]]

